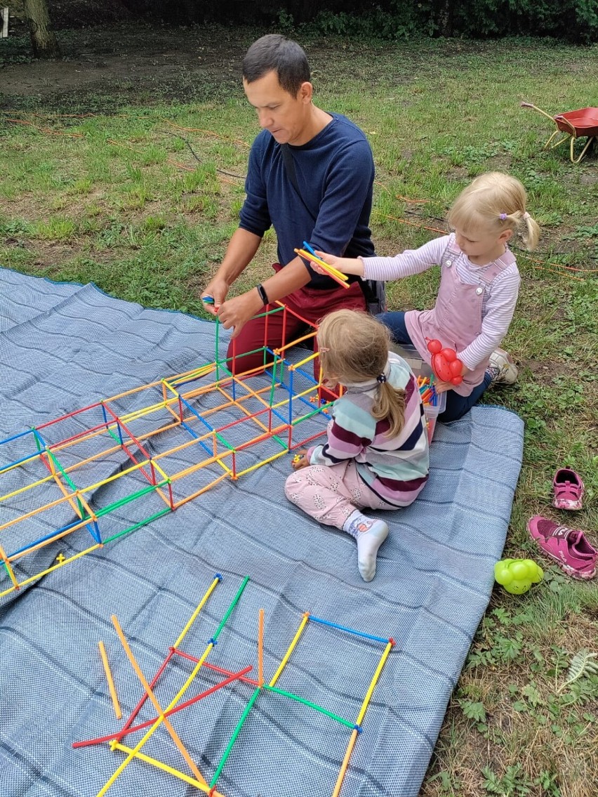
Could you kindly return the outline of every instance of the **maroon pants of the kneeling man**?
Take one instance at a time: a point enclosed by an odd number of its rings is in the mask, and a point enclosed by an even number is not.
[[[275,263],[275,271],[279,271],[281,266]],[[315,290],[313,288],[300,288],[285,296],[283,303],[287,308],[296,312],[301,318],[309,321],[310,324],[317,324],[323,316],[334,310],[349,309],[365,311],[365,297],[361,286],[354,282],[348,289],[338,288],[330,290]],[[276,304],[268,304],[268,310],[276,308]],[[275,349],[284,344],[296,340],[308,332],[307,324],[293,316],[290,312],[284,313],[286,321],[284,323],[283,339],[283,312],[274,312],[272,315],[263,318],[253,318],[240,331],[240,335],[231,340],[229,344],[228,357],[238,357],[238,363],[233,359],[229,363],[229,368],[233,374],[240,374],[249,371],[251,368],[260,367],[264,364],[264,352],[256,351],[255,354],[245,355],[245,352],[261,349],[264,346],[264,336],[266,322],[268,322],[268,340],[265,345]],[[317,351],[317,342],[314,340],[314,351]],[[245,355],[245,356],[241,356]],[[268,359],[266,360],[268,362]],[[319,363],[317,358],[314,360],[314,375],[316,381],[319,379]]]

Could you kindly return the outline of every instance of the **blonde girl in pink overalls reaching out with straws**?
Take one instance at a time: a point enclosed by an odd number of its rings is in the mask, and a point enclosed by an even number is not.
[[[508,242],[521,233],[526,249],[537,245],[540,229],[526,210],[526,190],[517,179],[493,171],[477,177],[459,194],[448,214],[453,233],[395,257],[334,257],[330,265],[366,280],[394,280],[440,265],[440,291],[431,310],[385,312],[377,316],[397,344],[412,344],[428,363],[428,340],[455,349],[463,363],[459,385],[436,383],[447,391],[439,420],[461,418],[491,384],[513,384],[513,360],[499,345],[513,318],[521,278]],[[314,266],[317,269],[317,266]]]

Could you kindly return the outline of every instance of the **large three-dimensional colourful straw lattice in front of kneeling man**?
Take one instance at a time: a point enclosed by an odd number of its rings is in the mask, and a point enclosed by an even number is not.
[[[281,303],[261,315],[268,321],[274,314],[283,325],[289,314],[300,317]],[[305,324],[310,332],[299,341],[317,332]],[[310,422],[323,412],[322,383],[308,365],[317,354],[291,365],[285,353],[299,341],[272,351],[264,334],[256,350],[264,364],[238,372],[240,355],[233,375],[229,359],[219,358],[214,329],[213,363],[0,440],[0,511],[6,507],[8,518],[0,524],[0,598],[324,434],[323,424]],[[111,491],[100,489],[107,485]],[[117,520],[125,505],[128,525]],[[33,571],[32,554],[47,545],[55,550],[71,535],[89,535],[91,544]]]

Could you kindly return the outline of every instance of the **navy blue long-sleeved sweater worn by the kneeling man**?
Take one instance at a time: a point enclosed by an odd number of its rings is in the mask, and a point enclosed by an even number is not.
[[[346,116],[330,116],[330,124],[311,141],[288,147],[301,198],[271,133],[263,130],[252,144],[240,227],[261,238],[273,225],[283,265],[296,257],[293,249],[302,247],[303,241],[344,257],[371,257],[374,252],[369,230],[372,150],[364,133]],[[330,277],[307,269],[311,288],[336,287]]]

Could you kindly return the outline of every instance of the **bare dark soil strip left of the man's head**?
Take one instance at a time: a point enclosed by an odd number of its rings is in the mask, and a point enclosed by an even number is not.
[[[206,26],[61,31],[62,61],[10,63],[30,54],[27,37],[18,37],[2,69],[0,107],[96,110],[100,100],[110,111],[152,97],[203,101],[232,85],[241,94],[240,64],[253,37]]]

